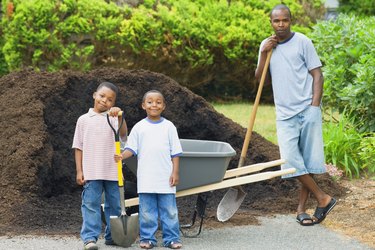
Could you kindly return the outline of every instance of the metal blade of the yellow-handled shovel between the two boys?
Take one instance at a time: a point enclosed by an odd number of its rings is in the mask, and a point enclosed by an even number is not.
[[[118,246],[130,247],[139,235],[138,214],[111,217],[111,235]]]

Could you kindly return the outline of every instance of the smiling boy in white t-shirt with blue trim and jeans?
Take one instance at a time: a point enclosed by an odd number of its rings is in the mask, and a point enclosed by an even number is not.
[[[124,152],[115,155],[116,161],[133,155],[138,158],[140,247],[144,249],[156,246],[159,216],[163,245],[182,247],[176,206],[182,148],[176,127],[161,116],[165,106],[159,91],[148,91],[142,100],[147,117],[132,128]]]

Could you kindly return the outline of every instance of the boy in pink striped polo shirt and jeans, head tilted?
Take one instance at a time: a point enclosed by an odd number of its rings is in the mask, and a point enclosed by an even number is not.
[[[118,189],[117,164],[113,160],[115,138],[108,125],[107,114],[113,127],[117,128],[121,118],[120,108],[114,107],[118,88],[113,83],[103,82],[93,94],[94,107],[78,118],[73,138],[75,149],[76,182],[83,185],[81,238],[84,249],[96,250],[96,241],[102,229],[101,201],[105,195],[105,218],[121,214]],[[120,129],[121,140],[125,141],[127,126]],[[110,223],[105,228],[105,244],[113,245]]]

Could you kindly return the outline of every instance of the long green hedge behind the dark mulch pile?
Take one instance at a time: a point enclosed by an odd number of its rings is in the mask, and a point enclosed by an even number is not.
[[[268,15],[280,1],[145,0],[135,8],[114,2],[2,0],[4,68],[145,68],[202,95],[256,92],[258,46],[272,34]],[[322,2],[284,2],[295,29],[308,32],[315,17],[304,7],[320,13]]]

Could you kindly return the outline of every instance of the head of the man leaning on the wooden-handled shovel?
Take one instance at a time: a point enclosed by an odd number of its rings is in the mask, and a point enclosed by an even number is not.
[[[271,14],[271,25],[279,40],[285,40],[290,35],[291,18],[287,9],[274,10]]]

